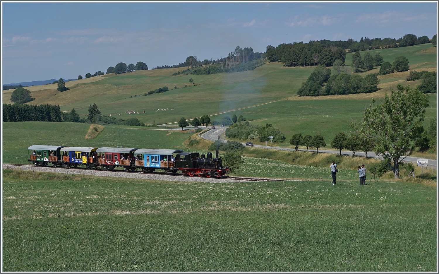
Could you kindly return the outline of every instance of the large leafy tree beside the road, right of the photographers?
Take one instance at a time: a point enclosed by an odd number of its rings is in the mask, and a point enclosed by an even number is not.
[[[399,164],[411,154],[414,142],[428,107],[428,94],[417,88],[398,85],[385,94],[381,105],[364,110],[360,134],[374,141],[374,152],[393,162],[392,171],[399,178]]]

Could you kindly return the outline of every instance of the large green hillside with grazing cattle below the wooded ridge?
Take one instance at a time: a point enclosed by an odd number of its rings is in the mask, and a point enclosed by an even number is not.
[[[436,47],[431,43],[370,52],[372,55],[379,52],[384,61],[390,62],[396,56],[404,55],[412,69],[436,69]],[[351,64],[352,55],[347,54],[346,64]],[[224,115],[231,117],[236,114],[255,119],[252,123],[272,123],[287,135],[287,140],[294,133],[320,133],[329,141],[337,132],[349,130],[351,119],[360,119],[363,106],[369,105],[372,97],[383,98],[399,83],[412,87],[421,84],[421,80],[405,81],[409,72],[396,72],[378,76],[380,90],[371,94],[297,96],[297,90],[313,69],[288,68],[274,62],[251,71],[212,75],[172,76],[178,70],[175,68],[108,74],[94,82],[74,84],[65,92],[32,87],[32,97],[36,98],[32,104],[59,104],[63,111],[75,108],[80,115],[85,115],[88,106],[96,103],[103,115],[116,115],[122,119],[136,117],[145,124],[173,123],[181,117],[191,119],[204,114],[212,121],[219,121]],[[360,75],[375,73],[378,69]],[[352,73],[349,66],[346,66],[346,71]],[[189,83],[190,78],[194,79],[196,86]],[[144,96],[148,91],[164,86],[169,91]],[[10,94],[11,90],[4,92],[4,102],[9,101]],[[427,111],[427,122],[435,115],[435,105],[434,94],[430,96],[432,108]],[[157,111],[158,108],[166,111]],[[128,114],[128,111],[139,114]],[[216,115],[223,112],[226,113]]]

